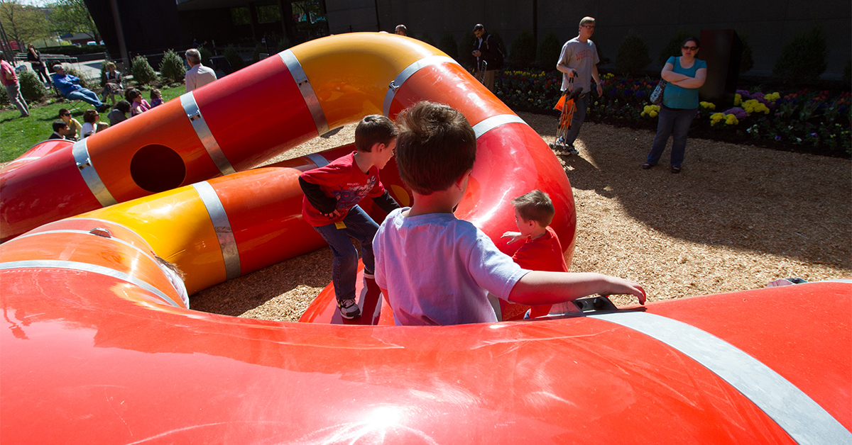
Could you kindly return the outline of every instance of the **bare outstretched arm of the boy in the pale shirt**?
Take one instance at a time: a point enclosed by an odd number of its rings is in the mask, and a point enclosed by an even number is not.
[[[593,294],[631,294],[645,304],[645,289],[638,282],[592,272],[531,271],[515,283],[508,300],[530,306],[555,305]]]

